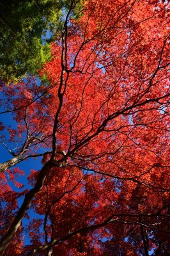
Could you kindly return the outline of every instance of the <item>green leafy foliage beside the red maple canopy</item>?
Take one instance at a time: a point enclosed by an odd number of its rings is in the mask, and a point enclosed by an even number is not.
[[[36,74],[50,60],[52,35],[61,29],[59,0],[1,0],[0,74],[6,83],[18,81],[26,73]],[[44,39],[50,31],[49,40]]]

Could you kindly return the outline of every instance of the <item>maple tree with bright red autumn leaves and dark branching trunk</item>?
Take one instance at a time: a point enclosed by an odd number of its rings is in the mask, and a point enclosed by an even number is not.
[[[89,0],[72,19],[77,3],[40,70],[49,83],[1,83],[16,127],[0,124],[0,252],[168,255],[168,3]],[[31,157],[42,169],[27,174]]]

